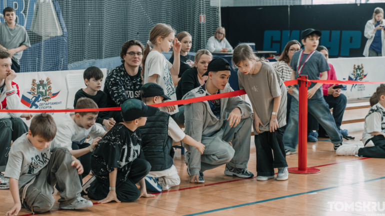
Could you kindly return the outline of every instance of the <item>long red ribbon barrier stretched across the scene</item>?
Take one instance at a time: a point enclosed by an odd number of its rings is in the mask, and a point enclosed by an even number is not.
[[[307,81],[308,85],[311,82],[317,82],[317,83],[324,83],[324,84],[376,84],[376,83],[385,83],[385,81],[379,81],[379,82],[362,82],[362,81],[340,81],[340,80],[308,80],[302,77],[298,77],[294,80],[289,80],[283,82],[285,86],[289,85],[295,85],[298,84],[298,81]],[[226,93],[220,93],[220,94],[213,94],[213,95],[207,95],[207,96],[201,96],[196,98],[190,98],[185,100],[177,100],[177,101],[168,101],[160,104],[152,104],[150,106],[153,107],[164,107],[164,106],[171,106],[171,105],[182,105],[182,104],[190,104],[190,103],[196,103],[206,100],[215,100],[220,98],[227,98],[227,97],[235,97],[244,95],[246,92],[242,90],[232,91],[232,92],[226,92]],[[10,110],[10,109],[0,109],[0,112],[7,112],[7,113],[61,113],[61,112],[94,112],[94,111],[114,111],[114,110],[120,110],[120,107],[110,107],[110,108],[95,108],[95,109],[61,109],[61,110]]]

